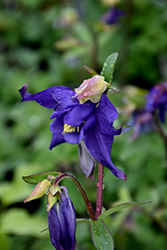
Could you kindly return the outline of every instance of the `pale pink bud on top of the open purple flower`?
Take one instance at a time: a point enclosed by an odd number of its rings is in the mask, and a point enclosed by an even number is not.
[[[80,104],[91,100],[93,103],[100,101],[102,93],[106,90],[110,84],[104,81],[104,77],[95,75],[92,78],[83,81],[83,83],[75,90],[74,97],[80,101]]]

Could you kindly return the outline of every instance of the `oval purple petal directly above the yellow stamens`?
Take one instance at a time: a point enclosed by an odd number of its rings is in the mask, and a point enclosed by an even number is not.
[[[74,107],[64,116],[64,122],[71,126],[79,126],[92,113],[95,105],[91,102],[86,102]]]

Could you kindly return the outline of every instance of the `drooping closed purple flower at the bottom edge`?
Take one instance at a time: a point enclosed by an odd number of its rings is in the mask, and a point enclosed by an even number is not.
[[[59,200],[48,211],[49,233],[56,250],[74,250],[76,246],[76,216],[65,187]]]

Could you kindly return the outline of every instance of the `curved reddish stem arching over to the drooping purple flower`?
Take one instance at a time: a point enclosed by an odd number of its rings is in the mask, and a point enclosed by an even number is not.
[[[86,193],[85,193],[85,190],[83,189],[83,187],[82,187],[82,185],[80,184],[80,182],[79,182],[79,181],[77,180],[77,178],[76,178],[75,176],[73,176],[72,174],[70,174],[70,173],[64,173],[64,174],[62,174],[62,175],[60,175],[60,176],[58,176],[58,177],[56,178],[55,183],[58,183],[59,181],[61,181],[61,180],[64,179],[64,178],[69,178],[69,179],[71,179],[71,180],[74,182],[74,184],[76,185],[77,189],[80,191],[80,193],[81,193],[81,195],[82,195],[82,198],[83,198],[83,200],[84,200],[84,202],[85,202],[85,205],[86,205],[86,207],[87,207],[87,209],[88,209],[90,218],[91,218],[92,220],[95,221],[95,220],[96,220],[96,217],[95,217],[95,213],[94,213],[93,208],[92,208],[92,204],[91,204],[91,202],[89,201],[89,199],[88,199],[88,197],[87,197],[87,195],[86,195]]]

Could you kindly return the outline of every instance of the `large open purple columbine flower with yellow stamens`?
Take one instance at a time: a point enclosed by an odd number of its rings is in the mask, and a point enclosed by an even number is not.
[[[98,103],[88,100],[80,104],[75,96],[76,92],[65,86],[51,87],[31,95],[27,92],[27,85],[24,85],[19,92],[22,102],[34,100],[54,110],[50,117],[55,119],[50,124],[53,133],[50,149],[64,142],[78,144],[81,147],[81,168],[87,177],[93,171],[95,159],[109,168],[116,177],[126,180],[124,172],[117,169],[111,161],[114,136],[119,135],[122,128],[113,127],[118,113],[104,93]],[[86,168],[83,160],[87,155],[90,165]]]

